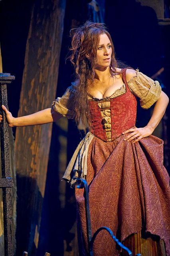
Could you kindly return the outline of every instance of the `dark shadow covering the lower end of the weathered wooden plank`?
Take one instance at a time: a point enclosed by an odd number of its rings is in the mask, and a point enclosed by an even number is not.
[[[16,176],[18,184],[18,201],[17,201],[17,229],[16,229],[16,255],[22,255],[24,251],[28,251],[28,255],[34,255],[36,252],[37,241],[34,241],[34,234],[40,231],[40,221],[38,216],[41,215],[41,206],[43,202],[42,194],[39,191],[36,179],[25,176]],[[37,192],[38,191],[38,192]],[[37,197],[35,198],[35,195]],[[26,201],[26,198],[29,198]],[[40,207],[36,208],[38,205]],[[28,210],[29,209],[29,210]],[[34,213],[34,216],[31,216]],[[20,222],[20,218],[25,222]],[[30,221],[32,226],[30,228]],[[29,237],[29,244],[26,243]]]

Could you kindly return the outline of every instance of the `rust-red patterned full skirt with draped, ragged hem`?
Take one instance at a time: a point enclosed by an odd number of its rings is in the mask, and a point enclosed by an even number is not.
[[[107,226],[134,255],[170,256],[170,189],[163,166],[163,141],[151,135],[132,144],[124,138],[122,135],[113,142],[103,142],[94,137],[89,146],[87,183],[92,233]],[[83,190],[76,188],[75,195],[79,252],[85,256],[88,246]],[[102,230],[95,239],[93,255],[128,254]]]

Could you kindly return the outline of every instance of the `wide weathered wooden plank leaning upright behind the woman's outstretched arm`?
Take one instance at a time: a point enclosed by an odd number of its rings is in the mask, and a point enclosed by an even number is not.
[[[39,0],[34,4],[18,116],[48,108],[55,98],[64,13],[65,0]],[[38,247],[51,128],[51,124],[45,124],[16,129],[20,209],[17,255],[26,248],[33,256]],[[21,209],[26,209],[26,212]]]

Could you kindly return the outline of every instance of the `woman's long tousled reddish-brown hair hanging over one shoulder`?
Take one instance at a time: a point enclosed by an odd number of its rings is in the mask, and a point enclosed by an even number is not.
[[[97,63],[97,48],[99,45],[100,35],[107,34],[112,47],[111,64],[109,71],[111,76],[115,76],[118,67],[115,59],[115,49],[109,32],[105,24],[85,22],[83,26],[74,28],[71,33],[71,51],[68,57],[75,67],[75,88],[76,95],[74,97],[75,121],[79,124],[80,120],[83,124],[83,129],[86,131],[87,124],[91,127],[91,118],[89,113],[89,105],[87,98],[87,87],[94,82],[95,67]],[[89,54],[90,53],[90,54]],[[89,58],[86,56],[89,55]]]

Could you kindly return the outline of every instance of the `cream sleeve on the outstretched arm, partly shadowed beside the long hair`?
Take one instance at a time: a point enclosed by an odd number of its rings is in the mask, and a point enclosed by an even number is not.
[[[73,97],[75,96],[75,89],[72,86],[68,87],[62,97],[58,97],[52,102],[53,110],[57,111],[62,116],[69,119],[74,118]]]

